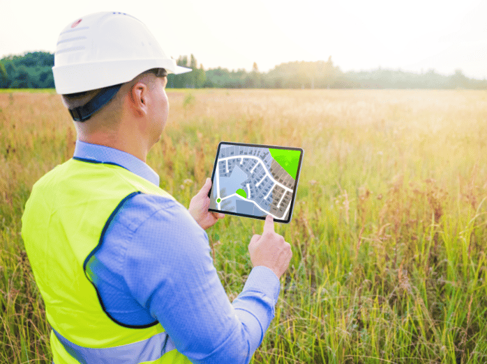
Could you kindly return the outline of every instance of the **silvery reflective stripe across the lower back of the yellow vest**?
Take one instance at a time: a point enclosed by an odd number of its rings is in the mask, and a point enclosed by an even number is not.
[[[111,363],[111,364],[137,364],[145,361],[155,361],[168,351],[176,349],[169,335],[158,333],[147,340],[133,342],[120,347],[107,347],[91,349],[80,347],[66,340],[56,330],[53,330],[64,349],[82,364]],[[137,356],[134,356],[137,354]]]

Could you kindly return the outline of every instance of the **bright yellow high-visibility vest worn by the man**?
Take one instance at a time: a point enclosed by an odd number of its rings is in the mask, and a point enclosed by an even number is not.
[[[33,186],[22,238],[53,328],[55,364],[190,363],[158,322],[126,327],[110,319],[85,270],[119,207],[135,193],[172,198],[121,166],[75,159]]]

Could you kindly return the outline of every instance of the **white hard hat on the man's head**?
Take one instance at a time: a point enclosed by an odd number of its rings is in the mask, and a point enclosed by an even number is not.
[[[61,31],[54,53],[54,84],[60,95],[124,84],[152,68],[181,74],[147,26],[131,15],[94,13]]]

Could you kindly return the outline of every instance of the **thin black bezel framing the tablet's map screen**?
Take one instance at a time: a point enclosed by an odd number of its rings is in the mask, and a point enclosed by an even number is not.
[[[298,189],[298,182],[299,182],[299,175],[301,174],[301,162],[303,161],[303,155],[304,155],[304,150],[302,148],[295,148],[295,147],[283,147],[280,145],[267,145],[267,144],[248,144],[248,143],[234,143],[231,141],[220,141],[218,143],[218,148],[216,150],[216,157],[215,157],[215,162],[213,164],[213,173],[211,173],[211,189],[208,193],[208,197],[211,198],[211,191],[213,191],[213,182],[215,178],[215,172],[216,172],[216,167],[218,166],[218,155],[220,155],[220,147],[222,145],[240,145],[243,147],[257,147],[257,148],[273,148],[273,149],[284,149],[284,150],[299,150],[299,164],[298,164],[298,170],[296,173],[296,179],[294,180],[294,187],[292,191],[292,197],[291,197],[291,202],[290,202],[290,214],[287,220],[285,219],[276,219],[274,218],[275,222],[278,223],[290,223],[292,219],[292,212],[294,210],[294,198],[296,197],[296,192]],[[208,209],[210,212],[220,212],[222,214],[230,214],[234,216],[243,216],[243,217],[250,217],[252,219],[259,219],[259,220],[265,220],[266,216],[255,216],[255,215],[248,215],[248,214],[242,214],[239,212],[231,212],[231,211],[223,211],[223,210],[218,210],[218,209]]]

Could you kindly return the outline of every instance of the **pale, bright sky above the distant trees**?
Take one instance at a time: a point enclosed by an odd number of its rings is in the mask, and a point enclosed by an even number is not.
[[[54,52],[61,29],[98,11],[147,24],[166,54],[193,53],[205,70],[261,71],[326,61],[344,72],[434,69],[487,78],[486,0],[0,0],[0,58]]]

